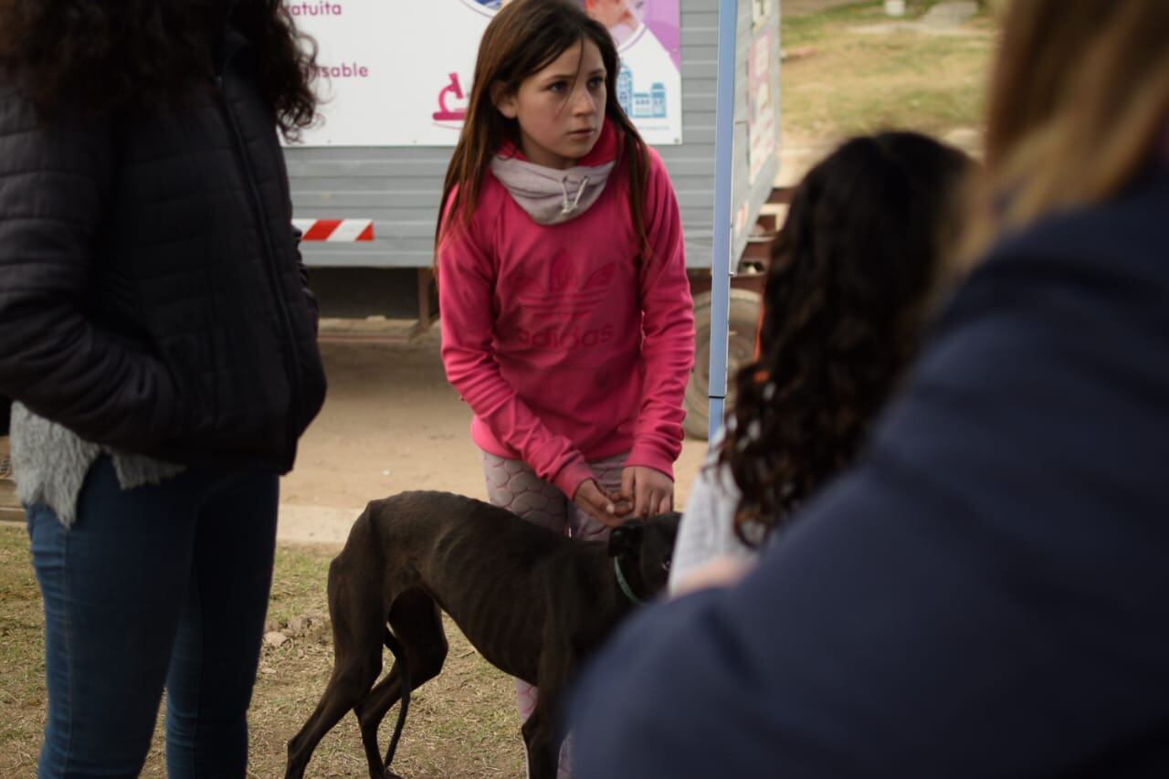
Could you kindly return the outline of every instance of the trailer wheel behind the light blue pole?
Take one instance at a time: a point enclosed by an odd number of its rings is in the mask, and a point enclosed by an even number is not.
[[[731,322],[727,339],[727,398],[724,412],[734,404],[734,374],[740,365],[755,358],[755,333],[762,298],[747,289],[731,290]],[[686,434],[705,440],[710,420],[711,384],[711,294],[694,297],[694,367],[686,385]]]

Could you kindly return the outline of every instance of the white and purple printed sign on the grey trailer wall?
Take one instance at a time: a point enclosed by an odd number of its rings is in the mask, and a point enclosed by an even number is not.
[[[289,2],[319,47],[323,119],[304,146],[454,146],[502,0]],[[617,96],[653,145],[682,143],[679,0],[580,0],[617,41]],[[506,2],[506,0],[503,0]]]

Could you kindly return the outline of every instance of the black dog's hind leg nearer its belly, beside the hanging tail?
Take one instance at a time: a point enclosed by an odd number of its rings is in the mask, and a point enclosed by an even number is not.
[[[387,642],[390,652],[395,654],[396,662],[386,678],[371,690],[357,710],[371,775],[374,775],[375,767],[379,767],[374,763],[378,758],[378,726],[386,717],[386,712],[402,699],[386,759],[380,763],[386,775],[392,775],[389,766],[394,760],[397,740],[406,723],[409,692],[437,676],[447,660],[448,643],[442,627],[442,613],[430,595],[421,590],[407,591],[394,600],[389,609],[389,626],[402,652],[394,652],[394,647]],[[407,669],[408,673],[403,674]]]

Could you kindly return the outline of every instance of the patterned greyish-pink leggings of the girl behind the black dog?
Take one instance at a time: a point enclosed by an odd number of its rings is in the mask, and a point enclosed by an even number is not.
[[[621,489],[621,470],[625,466],[628,453],[594,460],[589,462],[593,475],[601,489],[616,492]],[[604,540],[609,529],[580,509],[568,496],[535,475],[527,463],[519,460],[483,453],[483,473],[487,480],[487,499],[498,506],[507,509],[521,519],[547,528],[558,533],[583,540]],[[516,701],[519,705],[520,722],[526,722],[535,709],[537,689],[521,680],[516,680]],[[560,751],[560,768],[558,778],[567,778],[568,751],[570,744],[565,742]]]

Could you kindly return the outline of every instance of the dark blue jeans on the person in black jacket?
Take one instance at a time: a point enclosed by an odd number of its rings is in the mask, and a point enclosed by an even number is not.
[[[37,775],[137,777],[166,687],[171,779],[243,777],[276,549],[274,474],[122,490],[109,457],[65,529],[27,506],[49,717]]]

